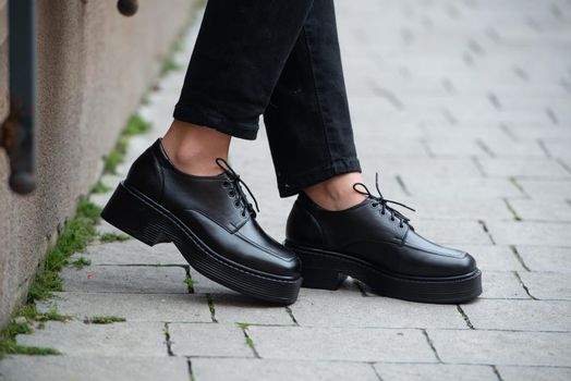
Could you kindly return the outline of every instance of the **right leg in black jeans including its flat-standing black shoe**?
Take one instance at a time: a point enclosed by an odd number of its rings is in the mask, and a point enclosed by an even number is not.
[[[391,207],[398,202],[362,183],[332,0],[314,1],[264,118],[280,195],[300,193],[286,245],[301,259],[305,286],[335,290],[350,275],[410,300],[479,295],[469,254],[423,238]]]

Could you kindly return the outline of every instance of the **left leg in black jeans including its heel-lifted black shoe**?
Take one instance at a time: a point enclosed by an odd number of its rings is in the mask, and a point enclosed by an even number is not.
[[[300,261],[262,230],[255,199],[223,159],[231,136],[255,138],[312,3],[210,0],[177,121],[135,160],[102,212],[148,245],[173,242],[209,279],[283,304],[297,297]]]

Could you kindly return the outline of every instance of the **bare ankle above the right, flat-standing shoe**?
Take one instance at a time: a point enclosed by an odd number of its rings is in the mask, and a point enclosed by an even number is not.
[[[363,201],[365,196],[353,189],[353,184],[362,183],[360,172],[336,175],[303,189],[318,206],[328,210],[343,210]]]

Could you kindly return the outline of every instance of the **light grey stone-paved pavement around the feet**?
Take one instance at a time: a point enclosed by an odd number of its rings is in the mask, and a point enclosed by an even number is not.
[[[39,305],[75,319],[17,336],[63,355],[11,356],[1,380],[571,380],[571,2],[336,4],[365,179],[378,171],[418,232],[472,253],[482,296],[425,305],[349,280],[275,307],[201,276],[171,245],[95,243],[76,255],[92,265],[66,268],[65,291]],[[155,130],[129,161],[168,127],[183,76],[141,107]],[[264,128],[234,139],[231,161],[282,239],[293,198],[278,196]]]

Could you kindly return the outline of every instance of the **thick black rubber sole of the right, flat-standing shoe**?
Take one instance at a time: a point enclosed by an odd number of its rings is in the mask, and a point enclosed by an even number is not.
[[[300,257],[302,287],[337,290],[349,275],[380,295],[412,302],[455,304],[482,294],[482,272],[477,269],[459,276],[405,276],[340,253],[300,246],[289,241],[284,245]]]

